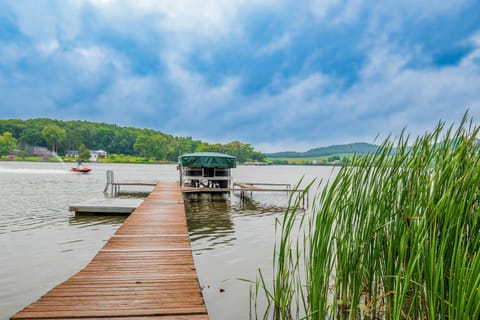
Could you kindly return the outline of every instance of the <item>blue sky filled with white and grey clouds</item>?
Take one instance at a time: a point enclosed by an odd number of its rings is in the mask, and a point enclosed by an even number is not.
[[[263,152],[480,122],[480,0],[1,0],[0,118]]]

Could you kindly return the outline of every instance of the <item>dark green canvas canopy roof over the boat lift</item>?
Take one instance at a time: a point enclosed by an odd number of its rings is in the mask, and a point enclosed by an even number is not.
[[[196,152],[184,154],[178,157],[178,163],[182,167],[194,168],[235,168],[237,160],[233,156],[217,152]]]

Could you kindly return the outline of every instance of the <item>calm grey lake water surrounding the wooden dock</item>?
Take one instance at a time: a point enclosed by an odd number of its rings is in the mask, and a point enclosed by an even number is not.
[[[84,215],[72,204],[105,197],[105,173],[118,180],[178,181],[175,165],[88,164],[73,174],[62,163],[0,162],[0,319],[8,319],[81,270],[126,216]],[[330,167],[239,166],[236,182],[290,183],[328,179]],[[128,190],[148,192],[146,187]],[[137,195],[138,196],[138,195]],[[310,197],[312,199],[312,197]],[[275,219],[284,193],[185,198],[195,265],[210,318],[248,319],[249,285],[261,268],[271,274]]]

